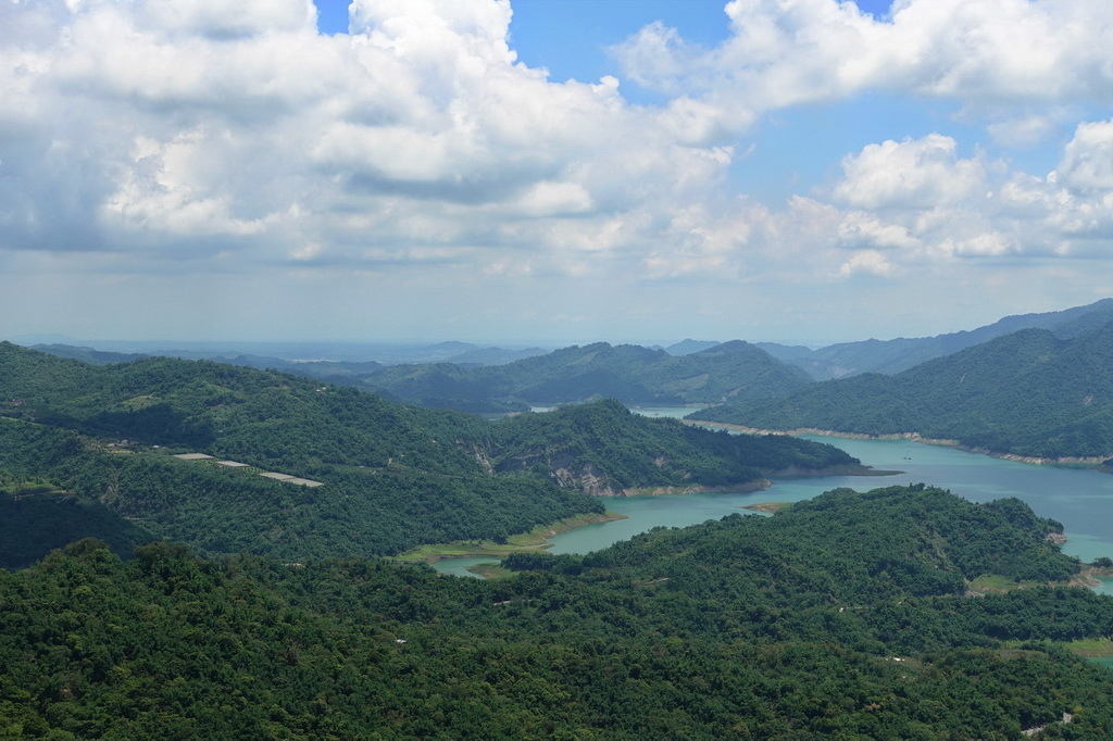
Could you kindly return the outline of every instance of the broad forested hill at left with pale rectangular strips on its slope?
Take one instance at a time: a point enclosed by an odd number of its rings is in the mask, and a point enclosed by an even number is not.
[[[646,442],[653,437],[646,431],[662,429],[628,417],[593,452],[594,464],[603,464],[599,475],[631,487],[660,485],[656,467],[648,480],[637,477],[650,472],[644,466],[609,468],[624,461],[609,452],[613,446],[627,454],[624,435]],[[686,482],[698,486],[703,471],[737,470],[716,439],[691,438],[689,451],[699,461],[676,456],[671,474],[690,474]],[[53,492],[43,496],[68,492],[82,506],[107,507],[117,517],[98,514],[105,527],[131,523],[208,553],[292,560],[499,539],[602,511],[580,488],[558,485],[567,482],[555,471],[492,470],[487,448],[494,442],[491,424],[477,417],[392,404],[308,378],[173,358],[91,366],[0,344],[0,482],[9,492],[0,496],[24,493],[10,511],[23,517],[18,526],[26,532],[41,530],[41,517],[57,508],[27,498],[42,486]],[[171,455],[187,452],[249,468]],[[809,451],[787,446],[776,454],[778,461],[811,460]],[[324,485],[307,488],[258,472]],[[104,527],[85,534],[112,541]],[[4,547],[12,545],[0,543]],[[0,554],[0,563],[23,565],[42,553]]]

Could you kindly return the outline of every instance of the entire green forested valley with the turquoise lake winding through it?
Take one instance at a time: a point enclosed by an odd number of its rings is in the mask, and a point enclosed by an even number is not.
[[[0,344],[0,732],[1104,738],[1113,325],[1071,316],[893,376],[601,343],[382,394]],[[812,402],[850,436],[707,428]],[[948,424],[992,455],[899,434]]]

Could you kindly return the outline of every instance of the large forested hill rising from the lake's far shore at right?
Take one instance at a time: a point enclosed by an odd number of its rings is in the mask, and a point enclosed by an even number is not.
[[[1026,329],[895,376],[828,381],[691,416],[766,429],[918,433],[1041,458],[1109,457],[1113,323],[1066,340]]]

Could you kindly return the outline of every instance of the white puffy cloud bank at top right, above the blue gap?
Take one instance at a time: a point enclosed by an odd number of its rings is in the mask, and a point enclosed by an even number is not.
[[[985,105],[1107,100],[1113,17],[1089,0],[732,0],[731,36],[700,49],[651,24],[615,47],[627,75],[668,93],[769,110],[899,90]]]

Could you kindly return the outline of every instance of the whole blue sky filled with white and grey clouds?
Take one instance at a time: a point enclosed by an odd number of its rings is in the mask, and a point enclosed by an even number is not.
[[[1095,0],[0,0],[0,337],[823,344],[1089,304],[1111,49]]]

